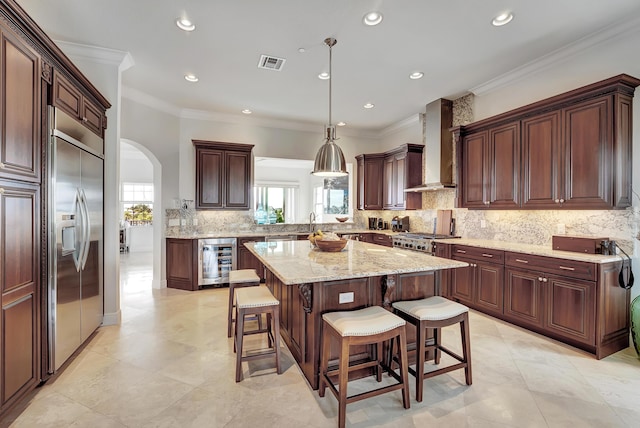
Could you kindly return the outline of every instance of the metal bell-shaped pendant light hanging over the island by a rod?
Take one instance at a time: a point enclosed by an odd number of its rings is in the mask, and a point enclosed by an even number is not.
[[[313,164],[313,175],[320,177],[342,177],[348,174],[347,163],[344,160],[342,150],[335,143],[336,127],[331,123],[331,82],[333,73],[331,70],[331,48],[335,46],[337,40],[334,38],[324,39],[324,43],[329,46],[329,124],[326,126],[325,141]]]

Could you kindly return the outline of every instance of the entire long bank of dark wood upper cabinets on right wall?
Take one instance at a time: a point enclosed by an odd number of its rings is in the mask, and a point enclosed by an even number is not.
[[[455,128],[458,206],[629,207],[638,85],[620,75]]]

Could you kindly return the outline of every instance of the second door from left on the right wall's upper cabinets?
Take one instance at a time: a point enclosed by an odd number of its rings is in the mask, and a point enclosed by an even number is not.
[[[492,129],[489,141],[490,204],[493,208],[517,208],[520,203],[520,124]]]

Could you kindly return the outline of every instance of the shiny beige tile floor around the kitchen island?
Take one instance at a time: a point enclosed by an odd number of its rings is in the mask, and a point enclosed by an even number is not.
[[[40,388],[15,427],[335,427],[337,404],[308,386],[288,350],[234,382],[228,289],[152,290],[149,255],[122,257],[122,325],[100,328]],[[455,328],[445,341],[456,342]],[[472,312],[473,385],[462,371],[347,407],[350,427],[638,427],[640,359],[593,357]],[[412,383],[412,397],[415,388]],[[436,425],[437,424],[437,425]]]

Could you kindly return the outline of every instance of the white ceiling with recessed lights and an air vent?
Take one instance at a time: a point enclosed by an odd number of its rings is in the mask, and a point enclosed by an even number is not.
[[[54,40],[131,54],[128,88],[179,109],[323,124],[326,37],[333,122],[380,130],[436,98],[455,98],[516,67],[640,16],[638,0],[18,0]],[[377,10],[382,24],[362,17]],[[491,19],[515,14],[503,27]],[[179,30],[189,17],[197,28]],[[304,48],[304,53],[298,49]],[[261,70],[261,54],[285,58]],[[421,80],[409,73],[423,71]],[[622,71],[621,71],[622,72]],[[183,76],[194,73],[198,83]],[[588,70],[585,70],[588,73]],[[114,100],[111,100],[113,103]],[[365,110],[371,102],[375,108]]]

